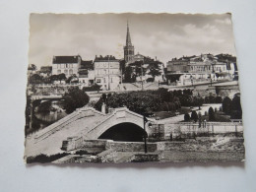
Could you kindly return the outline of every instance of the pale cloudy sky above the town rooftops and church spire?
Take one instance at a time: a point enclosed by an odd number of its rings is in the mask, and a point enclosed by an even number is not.
[[[201,53],[236,55],[230,14],[31,14],[29,62],[52,64],[53,56],[123,58],[127,21],[135,54],[158,58]]]

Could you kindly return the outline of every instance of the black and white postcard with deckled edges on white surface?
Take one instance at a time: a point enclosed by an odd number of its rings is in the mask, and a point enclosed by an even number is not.
[[[226,14],[31,14],[25,163],[241,162]]]

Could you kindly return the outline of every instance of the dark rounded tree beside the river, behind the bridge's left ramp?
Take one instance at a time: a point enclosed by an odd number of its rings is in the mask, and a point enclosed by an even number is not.
[[[77,108],[85,106],[90,97],[78,87],[70,88],[63,96],[63,107],[67,113],[72,113]]]

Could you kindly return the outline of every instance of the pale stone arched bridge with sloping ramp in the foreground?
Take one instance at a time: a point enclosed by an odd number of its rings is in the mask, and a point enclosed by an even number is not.
[[[154,119],[148,118],[148,120],[148,123],[155,123]],[[68,138],[96,140],[110,128],[116,125],[121,125],[119,127],[122,128],[122,125],[127,123],[129,124],[128,129],[135,127],[137,130],[143,131],[143,116],[130,111],[126,107],[115,108],[107,114],[101,113],[92,107],[79,108],[59,121],[29,136],[26,141],[28,146],[26,154],[32,156],[34,154],[50,155],[59,153],[62,142]]]

